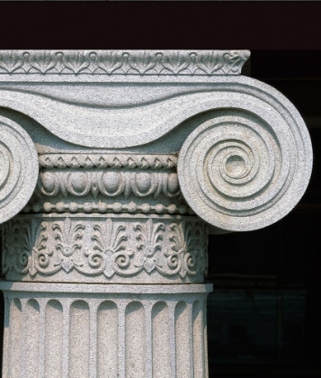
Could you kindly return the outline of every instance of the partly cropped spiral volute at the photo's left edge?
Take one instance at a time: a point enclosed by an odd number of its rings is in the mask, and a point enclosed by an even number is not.
[[[36,148],[25,130],[0,116],[0,223],[22,210],[38,179]]]

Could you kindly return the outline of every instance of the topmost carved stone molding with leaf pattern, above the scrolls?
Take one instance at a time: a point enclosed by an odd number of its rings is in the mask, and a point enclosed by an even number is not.
[[[249,50],[0,50],[0,76],[240,75]]]

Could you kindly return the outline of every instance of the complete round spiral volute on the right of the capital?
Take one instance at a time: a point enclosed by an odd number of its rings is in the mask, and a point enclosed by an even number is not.
[[[270,112],[261,118],[217,111],[183,144],[178,160],[183,196],[218,229],[268,226],[299,202],[308,185],[312,151],[303,121],[295,130],[280,113]]]

